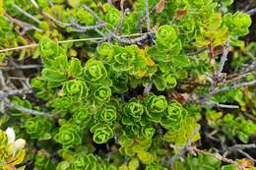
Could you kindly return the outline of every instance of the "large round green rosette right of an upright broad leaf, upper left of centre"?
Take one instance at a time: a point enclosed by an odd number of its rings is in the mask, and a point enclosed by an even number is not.
[[[95,59],[88,60],[84,68],[84,77],[92,84],[111,85],[103,63]]]

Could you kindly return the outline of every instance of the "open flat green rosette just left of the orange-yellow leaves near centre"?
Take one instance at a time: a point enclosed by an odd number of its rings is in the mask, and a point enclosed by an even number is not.
[[[116,72],[129,71],[134,67],[134,61],[138,47],[130,45],[126,47],[113,46],[112,68]]]

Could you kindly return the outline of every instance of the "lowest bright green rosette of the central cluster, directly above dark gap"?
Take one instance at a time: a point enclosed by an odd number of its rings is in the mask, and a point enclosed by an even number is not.
[[[113,138],[113,130],[106,124],[96,124],[91,128],[91,132],[94,133],[96,143],[104,143]]]

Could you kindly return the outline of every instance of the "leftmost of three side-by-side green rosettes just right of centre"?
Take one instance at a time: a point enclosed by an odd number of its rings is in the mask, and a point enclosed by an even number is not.
[[[144,106],[136,99],[131,99],[125,105],[124,114],[122,116],[122,123],[125,125],[134,125],[135,122],[140,122],[144,113]]]

